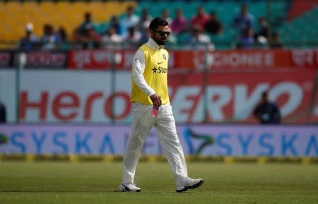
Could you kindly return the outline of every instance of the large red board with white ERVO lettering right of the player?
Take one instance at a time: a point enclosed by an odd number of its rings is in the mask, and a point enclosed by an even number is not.
[[[254,123],[252,112],[264,90],[285,124],[318,121],[315,71],[170,75],[170,101],[186,123]],[[316,88],[315,88],[316,86]],[[205,94],[204,94],[205,93]]]

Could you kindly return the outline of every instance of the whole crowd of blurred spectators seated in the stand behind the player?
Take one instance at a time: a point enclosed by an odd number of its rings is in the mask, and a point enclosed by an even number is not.
[[[214,11],[206,13],[203,6],[197,8],[191,19],[185,18],[180,8],[176,9],[173,19],[167,9],[163,9],[161,15],[170,24],[170,42],[183,44],[191,49],[215,49],[211,36],[223,35],[227,29]],[[112,16],[104,30],[98,29],[98,24],[93,21],[93,13],[85,13],[83,17],[83,23],[78,25],[71,37],[67,36],[63,27],[54,30],[50,24],[45,24],[42,37],[37,37],[33,33],[33,24],[28,23],[25,26],[25,36],[21,38],[18,46],[20,49],[45,50],[120,47],[123,44],[139,46],[148,40],[148,25],[155,16],[151,16],[146,8],[141,11],[141,16],[137,16],[134,7],[129,6],[120,18]],[[232,19],[231,25],[231,28],[237,31],[237,36],[232,39],[237,48],[249,49],[255,45],[282,47],[277,33],[269,32],[266,18],[259,18],[258,30],[254,30],[253,26],[254,16],[249,13],[247,4],[242,4],[240,13]]]

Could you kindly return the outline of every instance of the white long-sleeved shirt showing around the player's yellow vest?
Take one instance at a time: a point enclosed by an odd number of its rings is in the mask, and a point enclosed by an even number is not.
[[[151,37],[149,37],[148,42],[146,43],[149,47],[153,49],[161,49],[160,47]],[[138,85],[143,92],[146,92],[148,96],[152,96],[155,94],[153,88],[151,88],[143,77],[143,72],[145,71],[146,60],[143,55],[143,51],[139,49],[134,56],[134,63],[132,68],[133,80],[136,85]]]

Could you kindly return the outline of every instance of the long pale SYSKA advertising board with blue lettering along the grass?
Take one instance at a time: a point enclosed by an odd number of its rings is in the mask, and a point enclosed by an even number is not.
[[[0,153],[123,155],[130,126],[2,125]],[[317,157],[317,126],[177,126],[185,155]],[[153,129],[146,155],[163,155]]]

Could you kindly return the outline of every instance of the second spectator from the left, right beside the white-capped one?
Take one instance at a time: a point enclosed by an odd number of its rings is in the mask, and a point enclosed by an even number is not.
[[[43,36],[41,37],[42,49],[52,50],[57,47],[58,37],[54,33],[53,27],[50,24],[45,24],[43,26]]]

